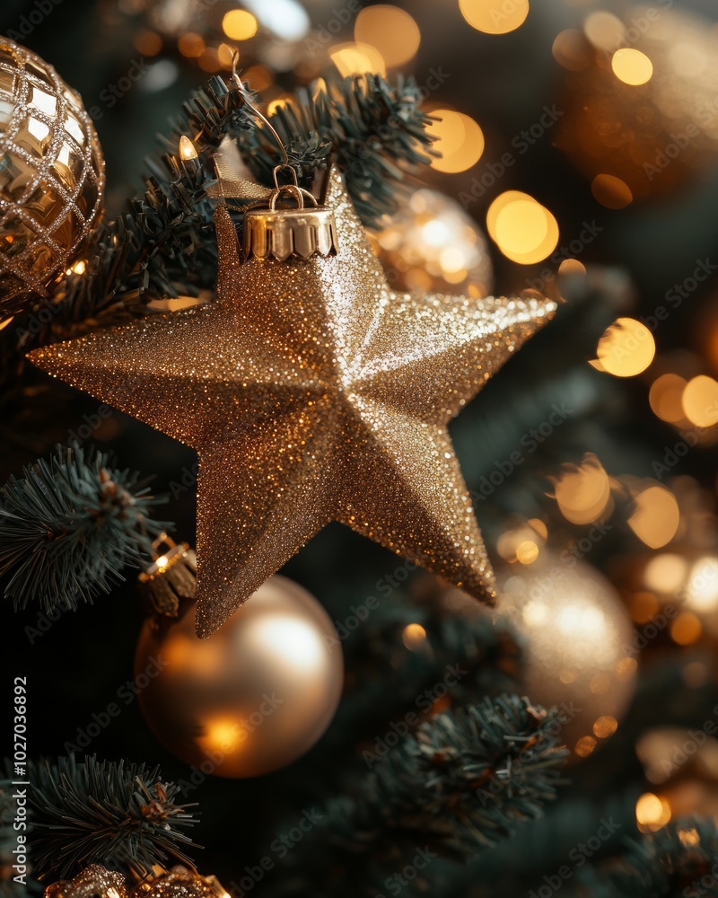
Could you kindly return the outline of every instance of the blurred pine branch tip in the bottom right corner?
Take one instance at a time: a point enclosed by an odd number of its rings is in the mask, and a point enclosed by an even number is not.
[[[716,858],[715,821],[686,817],[627,841],[622,858],[586,879],[591,898],[718,898]]]

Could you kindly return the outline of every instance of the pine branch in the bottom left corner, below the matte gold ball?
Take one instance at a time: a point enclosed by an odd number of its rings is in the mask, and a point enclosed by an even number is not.
[[[84,762],[74,755],[32,764],[28,790],[31,857],[37,876],[74,876],[97,863],[128,876],[146,876],[169,858],[190,863],[198,847],[183,830],[197,823],[180,788],[144,764]]]

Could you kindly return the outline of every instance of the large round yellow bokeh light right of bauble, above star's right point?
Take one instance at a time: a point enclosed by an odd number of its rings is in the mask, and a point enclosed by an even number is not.
[[[533,265],[546,259],[558,243],[556,218],[528,193],[507,190],[486,213],[486,227],[507,259]]]

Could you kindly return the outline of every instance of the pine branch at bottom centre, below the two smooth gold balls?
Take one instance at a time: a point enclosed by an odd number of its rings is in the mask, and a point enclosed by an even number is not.
[[[364,771],[354,797],[328,803],[295,859],[301,869],[272,883],[275,894],[306,894],[309,884],[316,889],[316,871],[330,869],[326,894],[363,881],[375,895],[381,877],[418,849],[472,858],[541,815],[566,755],[556,711],[528,699],[503,696],[441,714]]]

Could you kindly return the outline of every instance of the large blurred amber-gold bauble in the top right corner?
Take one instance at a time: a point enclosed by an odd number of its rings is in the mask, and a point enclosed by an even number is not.
[[[565,111],[557,145],[604,205],[666,193],[715,163],[713,22],[664,4],[629,9],[623,22],[594,11],[582,32],[559,35],[555,55],[574,69],[557,103]]]

